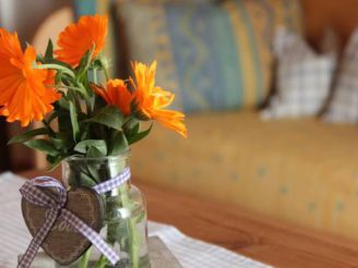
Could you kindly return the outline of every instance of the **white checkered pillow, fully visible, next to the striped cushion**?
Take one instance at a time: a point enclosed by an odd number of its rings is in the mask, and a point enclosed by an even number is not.
[[[317,53],[303,38],[284,28],[276,32],[274,52],[277,57],[276,94],[268,107],[261,113],[262,119],[298,118],[317,115],[326,101],[336,65],[335,46],[327,46]],[[329,49],[330,48],[330,49]]]

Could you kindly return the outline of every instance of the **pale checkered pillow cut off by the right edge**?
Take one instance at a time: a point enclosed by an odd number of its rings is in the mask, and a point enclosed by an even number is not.
[[[323,118],[330,122],[358,122],[358,28],[344,51],[333,98]]]

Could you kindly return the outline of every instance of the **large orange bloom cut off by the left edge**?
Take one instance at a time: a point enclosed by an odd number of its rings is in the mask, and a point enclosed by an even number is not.
[[[53,84],[53,75],[34,69],[35,61],[33,47],[23,52],[17,34],[0,28],[0,115],[8,117],[8,122],[19,120],[26,126],[32,120],[43,120],[61,97],[44,85]]]

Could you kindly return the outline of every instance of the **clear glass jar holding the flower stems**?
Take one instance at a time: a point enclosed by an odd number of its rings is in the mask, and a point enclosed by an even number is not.
[[[73,156],[62,161],[62,180],[67,187],[92,187],[119,175],[128,167],[129,154],[100,158]],[[95,246],[92,246],[68,267],[151,267],[147,251],[146,206],[142,193],[129,180],[121,186],[103,194],[102,197],[105,221],[100,235],[121,260],[112,266]]]

